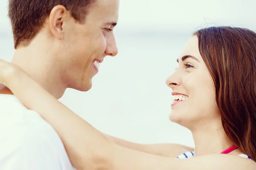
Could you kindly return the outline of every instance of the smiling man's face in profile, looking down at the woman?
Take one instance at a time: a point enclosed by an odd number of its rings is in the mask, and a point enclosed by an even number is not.
[[[97,0],[85,23],[73,20],[67,27],[58,55],[62,55],[60,76],[68,88],[88,91],[92,78],[106,56],[116,56],[113,28],[117,23],[119,0]]]

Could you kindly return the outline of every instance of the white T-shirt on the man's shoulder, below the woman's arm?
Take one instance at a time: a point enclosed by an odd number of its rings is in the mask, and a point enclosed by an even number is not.
[[[71,170],[64,145],[53,127],[13,96],[0,95],[3,98],[5,101],[0,100],[0,169],[13,166],[8,163],[10,159],[15,161],[13,164],[22,162],[38,170],[49,167]]]

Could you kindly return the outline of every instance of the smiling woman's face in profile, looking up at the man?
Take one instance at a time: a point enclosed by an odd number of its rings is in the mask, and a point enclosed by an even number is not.
[[[197,36],[188,40],[177,62],[177,70],[166,79],[174,100],[170,120],[191,129],[219,119],[215,85],[199,52]]]

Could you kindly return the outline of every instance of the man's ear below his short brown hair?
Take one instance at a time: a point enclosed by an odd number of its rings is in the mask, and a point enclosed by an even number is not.
[[[64,21],[67,20],[68,12],[67,9],[58,5],[52,8],[49,15],[49,26],[52,34],[58,39],[62,40],[64,37]]]

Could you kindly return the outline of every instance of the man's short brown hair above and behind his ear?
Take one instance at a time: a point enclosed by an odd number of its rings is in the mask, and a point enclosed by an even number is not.
[[[9,0],[15,49],[29,45],[38,34],[52,8],[63,5],[78,22],[84,22],[88,8],[96,0]]]

